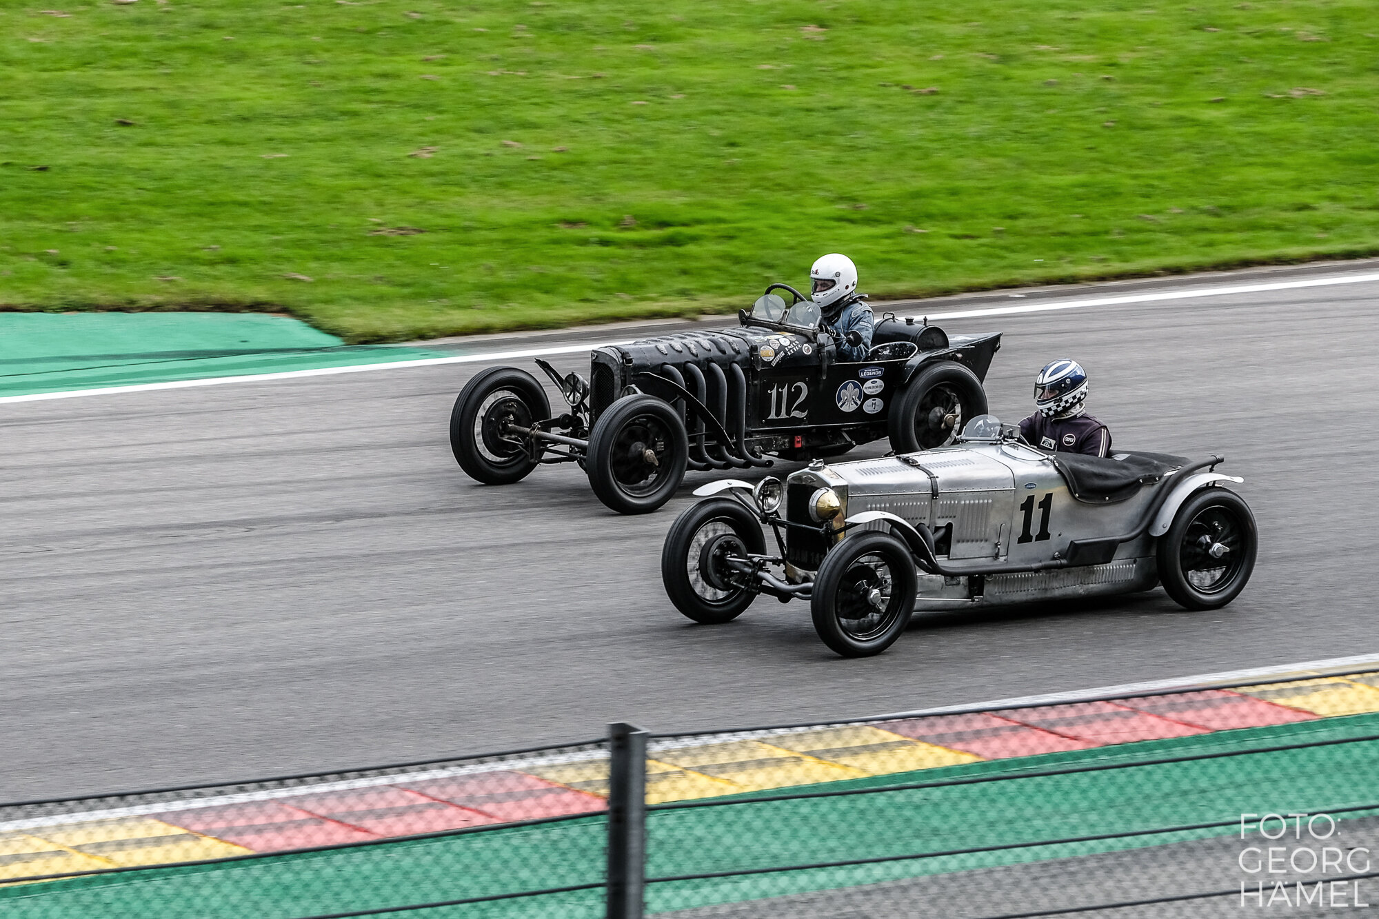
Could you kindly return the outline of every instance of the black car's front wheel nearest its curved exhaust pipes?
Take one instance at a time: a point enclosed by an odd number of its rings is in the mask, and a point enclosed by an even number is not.
[[[647,454],[655,457],[648,462]],[[623,396],[589,433],[586,472],[594,494],[618,513],[651,513],[685,477],[690,437],[680,413],[655,396]]]

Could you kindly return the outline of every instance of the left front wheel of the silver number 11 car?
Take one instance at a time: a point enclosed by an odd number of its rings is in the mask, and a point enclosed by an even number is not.
[[[732,498],[709,498],[687,508],[670,524],[661,549],[666,596],[695,622],[717,625],[738,618],[757,592],[732,578],[725,553],[764,555],[765,537],[756,515]]]

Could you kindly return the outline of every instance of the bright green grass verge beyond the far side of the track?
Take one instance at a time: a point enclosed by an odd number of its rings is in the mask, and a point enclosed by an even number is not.
[[[59,3],[59,0],[52,0]],[[350,342],[1379,251],[1364,0],[0,0],[0,304]]]

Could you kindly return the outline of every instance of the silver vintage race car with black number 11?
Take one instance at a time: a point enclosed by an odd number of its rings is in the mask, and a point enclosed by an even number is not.
[[[1220,484],[1244,480],[1220,462],[1047,453],[980,415],[953,446],[703,486],[707,500],[666,534],[661,575],[696,622],[727,622],[761,593],[808,599],[819,638],[845,657],[884,651],[914,610],[1157,584],[1183,607],[1216,609],[1249,581],[1259,542],[1249,506]]]

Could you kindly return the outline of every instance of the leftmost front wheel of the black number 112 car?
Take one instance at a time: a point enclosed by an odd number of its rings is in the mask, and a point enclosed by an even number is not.
[[[536,468],[527,451],[502,439],[501,425],[530,428],[550,418],[546,391],[536,378],[516,367],[491,367],[476,374],[450,413],[450,448],[470,479],[484,484],[512,484]]]

